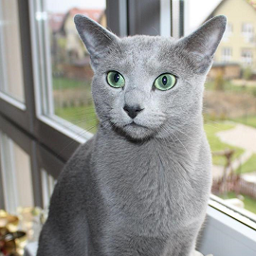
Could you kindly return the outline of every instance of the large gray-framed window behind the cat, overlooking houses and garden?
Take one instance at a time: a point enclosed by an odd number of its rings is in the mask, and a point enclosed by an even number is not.
[[[0,208],[47,209],[64,163],[96,131],[92,70],[73,26],[75,13],[90,16],[120,36],[175,38],[187,35],[212,15],[226,14],[229,40],[224,39],[215,54],[205,90],[213,194],[207,242],[200,250],[240,256],[239,248],[245,248],[247,255],[254,255],[256,62],[255,46],[242,46],[241,37],[241,33],[251,37],[254,28],[236,31],[236,24],[247,24],[248,14],[232,13],[251,8],[247,1],[236,1],[242,5],[239,9],[230,8],[230,0],[221,4],[220,0],[0,1]],[[18,193],[25,185],[26,192]],[[230,247],[221,243],[226,241],[235,242]]]

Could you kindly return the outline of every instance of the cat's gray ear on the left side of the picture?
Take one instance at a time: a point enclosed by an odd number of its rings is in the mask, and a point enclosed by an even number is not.
[[[110,47],[117,45],[119,38],[84,15],[77,14],[74,22],[90,54],[92,67],[95,68],[101,58],[109,52]]]

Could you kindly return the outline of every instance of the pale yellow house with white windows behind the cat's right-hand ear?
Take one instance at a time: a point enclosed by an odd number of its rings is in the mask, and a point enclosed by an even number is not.
[[[223,0],[207,20],[221,14],[227,16],[228,24],[215,53],[213,69],[239,64],[242,70],[248,67],[256,73],[256,0]],[[228,78],[235,78],[239,73],[237,69],[233,75],[229,72]]]

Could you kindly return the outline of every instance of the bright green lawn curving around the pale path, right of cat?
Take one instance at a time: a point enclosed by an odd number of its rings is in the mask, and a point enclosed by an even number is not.
[[[230,146],[227,143],[222,142],[217,136],[216,133],[221,131],[227,131],[234,128],[235,125],[227,122],[206,122],[205,123],[205,132],[210,143],[211,152],[223,151],[226,149],[234,149],[235,153],[233,159],[237,158],[239,155],[244,153],[244,150],[238,147]],[[226,158],[220,155],[213,155],[212,162],[214,165],[224,166],[226,164]]]

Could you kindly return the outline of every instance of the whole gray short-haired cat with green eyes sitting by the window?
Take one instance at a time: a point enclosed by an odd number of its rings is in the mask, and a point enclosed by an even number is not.
[[[120,39],[75,17],[100,127],[60,175],[38,256],[192,255],[211,185],[204,82],[226,23]]]

